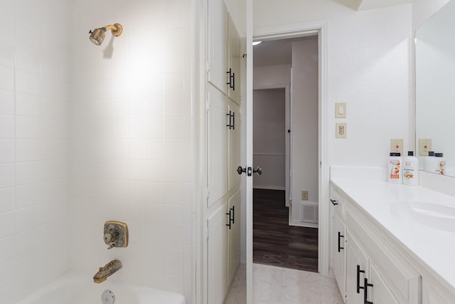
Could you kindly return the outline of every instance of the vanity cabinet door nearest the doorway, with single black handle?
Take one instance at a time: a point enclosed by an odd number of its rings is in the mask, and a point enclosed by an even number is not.
[[[333,275],[346,301],[346,226],[336,212],[332,215]]]

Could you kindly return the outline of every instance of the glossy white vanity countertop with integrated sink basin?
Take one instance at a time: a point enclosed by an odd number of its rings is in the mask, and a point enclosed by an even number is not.
[[[454,196],[378,180],[335,176],[331,182],[455,290]],[[408,204],[410,201],[415,204]]]

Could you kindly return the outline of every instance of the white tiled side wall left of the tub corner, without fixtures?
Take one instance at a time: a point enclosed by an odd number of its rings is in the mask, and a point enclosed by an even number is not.
[[[1,303],[70,267],[68,4],[0,4]]]

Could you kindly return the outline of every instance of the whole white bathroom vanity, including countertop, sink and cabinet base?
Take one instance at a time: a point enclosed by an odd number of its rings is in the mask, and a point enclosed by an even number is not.
[[[455,303],[455,197],[381,177],[331,168],[331,261],[345,302]]]

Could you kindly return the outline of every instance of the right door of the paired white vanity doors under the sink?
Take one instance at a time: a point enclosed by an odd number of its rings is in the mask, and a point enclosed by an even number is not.
[[[390,288],[380,276],[378,268],[370,263],[370,278],[368,278],[368,300],[374,304],[400,304]]]

